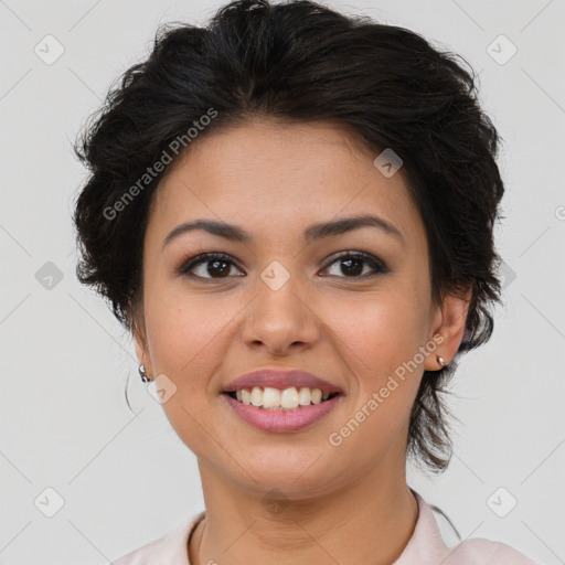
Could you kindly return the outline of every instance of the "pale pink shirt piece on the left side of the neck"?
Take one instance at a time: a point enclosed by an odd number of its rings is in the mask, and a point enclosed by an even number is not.
[[[203,515],[204,512],[201,512],[195,516],[183,520],[167,534],[126,553],[111,563],[114,565],[153,565],[156,563],[190,565],[186,543]]]

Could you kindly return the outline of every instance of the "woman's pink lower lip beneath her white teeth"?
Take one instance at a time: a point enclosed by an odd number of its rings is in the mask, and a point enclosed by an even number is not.
[[[257,408],[252,404],[243,404],[225,393],[222,396],[224,396],[237,416],[247,424],[265,431],[278,433],[298,431],[310,426],[330,413],[342,397],[341,394],[338,394],[329,401],[302,406],[295,411],[266,411]]]

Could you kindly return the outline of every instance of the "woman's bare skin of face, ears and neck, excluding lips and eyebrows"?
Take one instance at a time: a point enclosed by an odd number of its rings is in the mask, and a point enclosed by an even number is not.
[[[390,564],[418,516],[405,475],[411,408],[424,370],[457,352],[470,290],[431,302],[426,233],[402,169],[384,177],[376,154],[347,129],[254,118],[189,149],[150,210],[135,344],[147,374],[177,386],[163,409],[198,457],[206,518],[191,539],[191,563]],[[404,244],[375,227],[303,241],[312,223],[366,213],[394,224]],[[196,218],[237,224],[253,239],[194,231],[162,248],[173,227]],[[362,263],[362,274],[348,276],[333,257],[351,250],[390,271]],[[209,263],[193,269],[205,279],[175,273],[204,252],[233,257],[220,267],[230,276],[210,275]],[[290,275],[278,290],[260,278],[273,260]],[[435,334],[444,338],[436,351],[331,445],[330,434]],[[258,430],[220,394],[258,367],[302,369],[345,394],[309,428]]]

